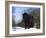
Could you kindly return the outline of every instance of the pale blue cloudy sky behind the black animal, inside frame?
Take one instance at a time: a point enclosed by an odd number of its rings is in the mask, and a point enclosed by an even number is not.
[[[23,20],[22,14],[24,12],[31,13],[33,10],[36,12],[39,11],[38,8],[31,8],[31,7],[12,7],[12,15],[15,16],[15,22],[16,24],[20,23]]]

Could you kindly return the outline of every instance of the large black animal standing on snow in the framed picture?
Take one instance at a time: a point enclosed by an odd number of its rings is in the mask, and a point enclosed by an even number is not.
[[[23,14],[23,19],[24,19],[24,22],[25,22],[25,29],[26,28],[31,28],[34,26],[34,18],[33,16],[31,15],[28,15],[27,13],[24,13]]]

